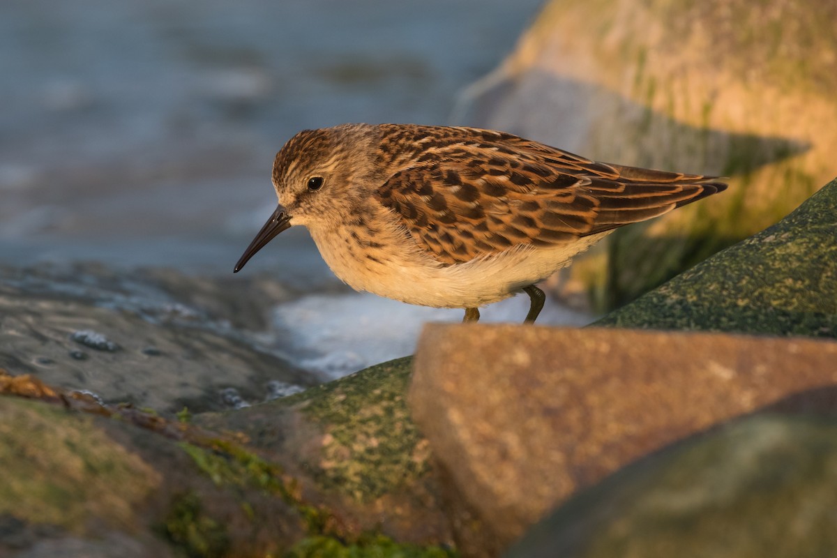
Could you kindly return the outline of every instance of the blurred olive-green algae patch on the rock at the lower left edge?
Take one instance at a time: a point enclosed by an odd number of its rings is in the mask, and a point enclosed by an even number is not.
[[[136,505],[158,489],[162,474],[94,420],[0,397],[0,514],[77,535],[94,516],[116,530],[136,525]]]

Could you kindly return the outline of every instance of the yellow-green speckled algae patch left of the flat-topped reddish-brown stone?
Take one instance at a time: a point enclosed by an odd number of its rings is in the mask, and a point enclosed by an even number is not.
[[[283,413],[298,412],[306,425],[295,424],[295,430],[308,428],[306,437],[321,438],[315,450],[300,457],[306,473],[326,493],[369,502],[429,471],[427,443],[404,402],[411,364],[412,357],[383,362],[274,402],[207,414],[198,422],[243,433],[254,448],[283,454],[285,438],[294,433],[277,428],[277,422]]]

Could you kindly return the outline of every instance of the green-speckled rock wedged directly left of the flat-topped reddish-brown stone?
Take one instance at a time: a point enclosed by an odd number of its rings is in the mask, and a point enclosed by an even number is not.
[[[195,420],[244,437],[295,476],[306,501],[325,505],[352,530],[449,543],[429,445],[404,401],[411,363],[385,362],[295,396]]]

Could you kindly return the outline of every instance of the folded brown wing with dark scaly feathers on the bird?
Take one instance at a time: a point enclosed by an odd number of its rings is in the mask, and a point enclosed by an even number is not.
[[[727,187],[715,177],[590,161],[502,132],[441,130],[375,196],[444,264],[571,242]]]

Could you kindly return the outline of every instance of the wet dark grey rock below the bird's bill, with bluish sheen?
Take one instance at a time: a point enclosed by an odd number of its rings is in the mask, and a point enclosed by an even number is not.
[[[0,268],[0,367],[160,412],[223,409],[224,390],[264,401],[271,381],[316,383],[249,329],[289,296],[258,277],[232,287],[97,264]]]

